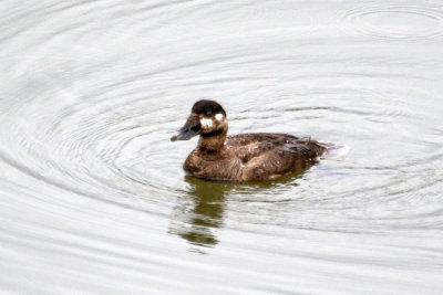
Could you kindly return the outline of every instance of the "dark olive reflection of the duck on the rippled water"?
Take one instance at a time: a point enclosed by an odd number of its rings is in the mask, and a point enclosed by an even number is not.
[[[229,194],[251,196],[266,192],[268,196],[276,196],[282,192],[282,188],[297,186],[295,180],[302,175],[303,171],[299,171],[275,180],[243,183],[208,181],[186,176],[188,189],[174,208],[168,232],[177,234],[192,245],[212,247],[219,242],[217,232],[224,224],[226,199]],[[202,249],[193,251],[204,253]]]

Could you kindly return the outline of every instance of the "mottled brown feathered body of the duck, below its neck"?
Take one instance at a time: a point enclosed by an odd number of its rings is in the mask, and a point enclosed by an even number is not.
[[[327,146],[286,134],[241,134],[226,137],[220,150],[197,147],[185,169],[213,180],[264,180],[303,170],[316,164]]]

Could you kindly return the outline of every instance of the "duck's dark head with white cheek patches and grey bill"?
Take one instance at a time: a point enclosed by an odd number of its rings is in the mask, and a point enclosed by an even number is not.
[[[194,104],[185,125],[171,137],[171,140],[188,140],[196,135],[202,137],[226,136],[227,130],[228,120],[225,109],[217,102],[202,99]]]

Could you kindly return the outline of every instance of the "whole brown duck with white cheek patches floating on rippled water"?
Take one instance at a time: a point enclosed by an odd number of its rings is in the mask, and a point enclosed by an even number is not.
[[[187,173],[206,180],[256,181],[303,171],[317,164],[331,144],[289,134],[248,133],[227,136],[226,112],[215,101],[194,104],[172,141],[199,136],[184,164]]]

